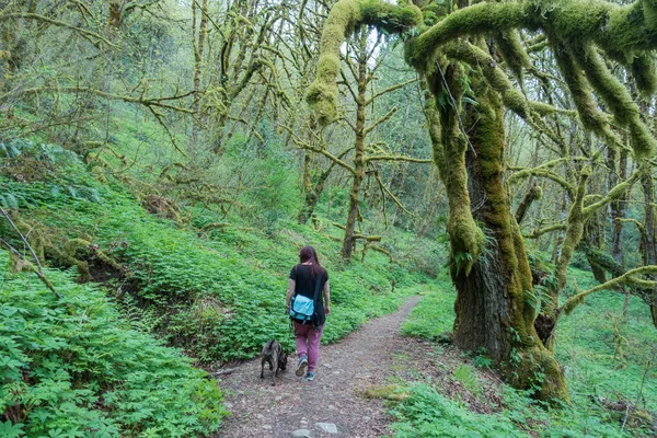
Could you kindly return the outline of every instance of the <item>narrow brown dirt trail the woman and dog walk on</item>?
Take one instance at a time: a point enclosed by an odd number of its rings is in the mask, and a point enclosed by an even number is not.
[[[396,312],[368,322],[342,342],[320,347],[316,377],[309,382],[295,376],[297,355],[279,372],[272,387],[270,371],[260,378],[260,358],[240,364],[229,374],[218,374],[232,416],[216,437],[380,437],[387,435],[383,402],[366,399],[362,390],[385,384],[402,371],[403,358],[415,339],[399,332],[419,297],[413,297]],[[326,322],[331,324],[331,316]]]

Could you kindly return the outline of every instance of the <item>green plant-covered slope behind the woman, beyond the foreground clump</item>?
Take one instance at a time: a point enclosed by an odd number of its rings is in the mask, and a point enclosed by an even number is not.
[[[299,250],[312,244],[331,278],[332,314],[323,342],[335,342],[370,318],[399,307],[427,278],[391,264],[379,253],[365,263],[339,262],[339,242],[279,218],[266,230],[242,227],[195,231],[219,221],[210,209],[185,205],[193,226],[147,212],[112,175],[101,183],[70,154],[60,172],[31,183],[0,176],[0,193],[11,194],[13,211],[36,226],[54,244],[83,239],[126,266],[116,272],[93,251],[76,257],[93,267],[110,296],[129,312],[136,327],[152,330],[200,361],[229,361],[260,353],[269,338],[293,348],[285,292]],[[5,221],[0,231],[18,237]],[[47,253],[47,252],[46,252]]]

